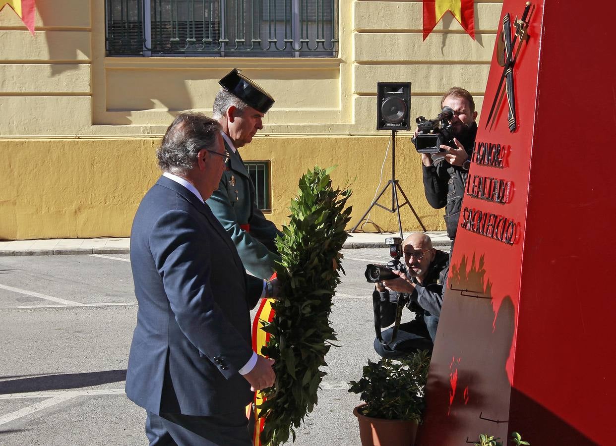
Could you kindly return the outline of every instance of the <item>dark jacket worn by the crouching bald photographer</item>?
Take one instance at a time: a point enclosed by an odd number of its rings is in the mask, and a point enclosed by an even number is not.
[[[440,317],[443,306],[443,284],[449,268],[448,253],[436,250],[436,256],[429,266],[423,284],[416,284],[407,308],[415,313],[415,319],[428,316]],[[399,293],[386,290],[381,292],[381,327],[389,327],[395,321],[395,310]]]

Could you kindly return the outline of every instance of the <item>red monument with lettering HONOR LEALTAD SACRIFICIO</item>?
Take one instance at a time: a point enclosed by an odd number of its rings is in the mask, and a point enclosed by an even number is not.
[[[614,10],[503,2],[418,445],[616,444]]]

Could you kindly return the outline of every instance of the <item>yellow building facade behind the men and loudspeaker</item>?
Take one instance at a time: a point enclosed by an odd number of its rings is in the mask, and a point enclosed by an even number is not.
[[[391,133],[375,130],[376,83],[411,82],[411,122],[436,116],[451,86],[468,89],[480,110],[501,6],[474,2],[475,39],[447,12],[424,40],[421,1],[339,0],[336,57],[306,58],[108,57],[105,1],[39,1],[34,36],[6,6],[0,239],[128,236],[160,175],[154,152],[167,125],[182,110],[211,115],[217,80],[232,68],[276,99],[242,149],[246,161],[270,162],[269,218],[285,223],[307,169],[338,165],[332,175],[354,191],[355,225],[391,177]],[[397,179],[421,223],[444,229],[443,210],[424,198],[410,137],[396,138]],[[381,202],[391,204],[391,192]],[[408,207],[400,213],[404,230],[421,228]],[[370,219],[397,230],[394,213],[376,207]]]

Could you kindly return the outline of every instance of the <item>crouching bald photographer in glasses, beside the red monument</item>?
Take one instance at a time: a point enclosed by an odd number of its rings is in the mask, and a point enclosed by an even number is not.
[[[382,340],[377,336],[375,350],[381,357],[394,359],[408,357],[418,349],[432,351],[449,257],[434,249],[430,237],[423,233],[408,236],[402,251],[406,268],[400,269],[406,272],[392,271],[398,277],[376,282],[373,292],[375,317],[380,319],[375,321],[375,328],[388,327],[395,321],[394,327],[381,332]],[[380,308],[376,308],[378,301]],[[402,305],[415,313],[413,321],[400,324]]]

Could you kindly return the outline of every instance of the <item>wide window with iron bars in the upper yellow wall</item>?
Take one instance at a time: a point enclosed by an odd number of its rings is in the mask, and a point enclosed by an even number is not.
[[[105,1],[108,56],[338,55],[338,0]]]

